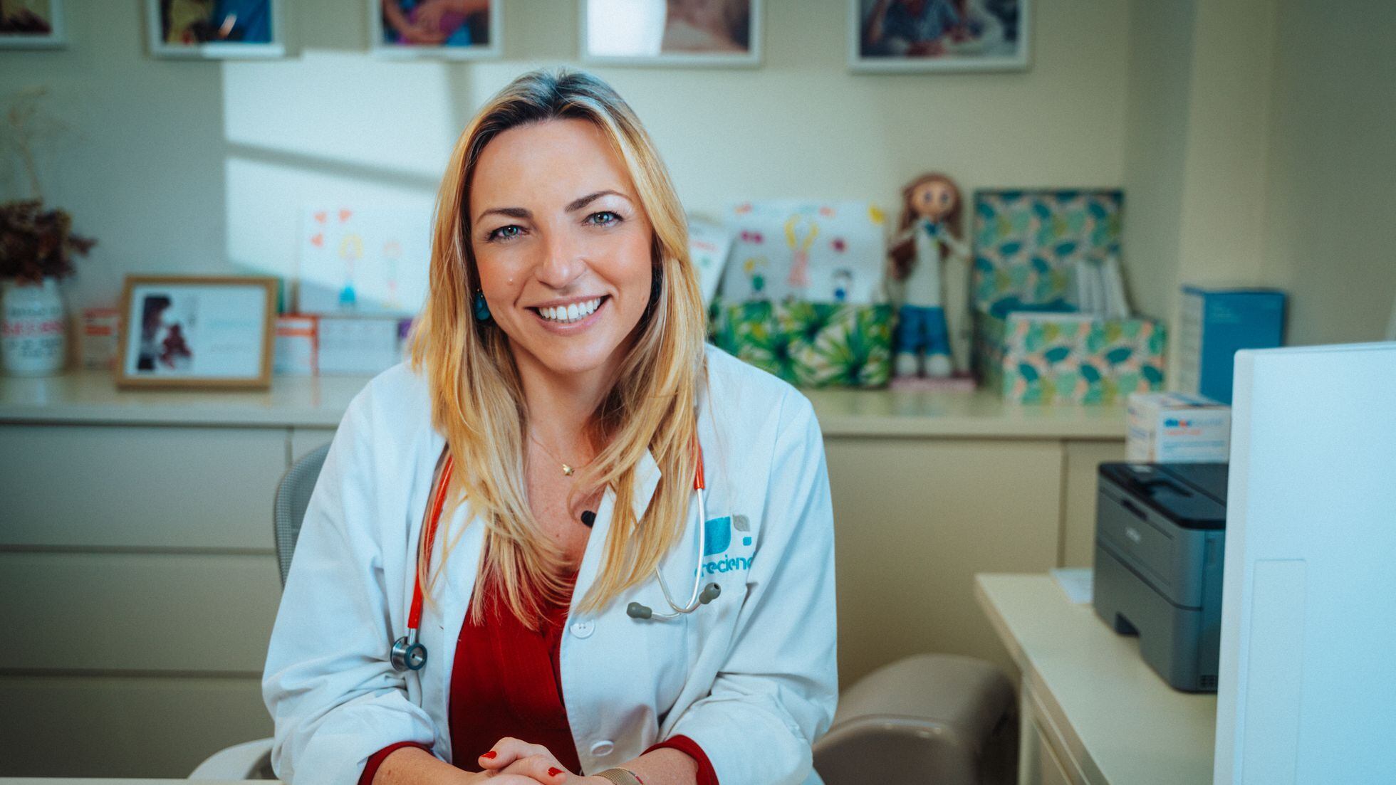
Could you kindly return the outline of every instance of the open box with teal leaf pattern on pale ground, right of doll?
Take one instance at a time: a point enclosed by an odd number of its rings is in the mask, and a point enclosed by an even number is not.
[[[1153,319],[980,312],[976,371],[986,389],[1015,403],[1120,403],[1163,389],[1164,339]]]

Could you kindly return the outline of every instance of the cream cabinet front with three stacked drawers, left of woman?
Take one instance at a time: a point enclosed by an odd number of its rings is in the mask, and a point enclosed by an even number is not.
[[[286,428],[0,424],[0,777],[187,777],[271,735]]]

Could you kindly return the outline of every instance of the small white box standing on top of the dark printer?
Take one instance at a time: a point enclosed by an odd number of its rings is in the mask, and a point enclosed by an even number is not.
[[[1226,463],[1231,407],[1187,393],[1129,396],[1125,457],[1138,463]]]

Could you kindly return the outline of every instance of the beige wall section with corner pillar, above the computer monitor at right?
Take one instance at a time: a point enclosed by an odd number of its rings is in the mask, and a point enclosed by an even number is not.
[[[1134,0],[1132,294],[1276,286],[1291,344],[1378,340],[1396,298],[1396,4]]]

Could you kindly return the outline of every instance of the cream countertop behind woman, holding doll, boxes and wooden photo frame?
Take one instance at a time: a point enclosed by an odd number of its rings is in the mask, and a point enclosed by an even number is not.
[[[267,390],[120,390],[110,374],[0,376],[0,422],[334,428],[369,376],[275,376]],[[1019,406],[995,393],[804,390],[828,436],[1124,439],[1122,406]]]

